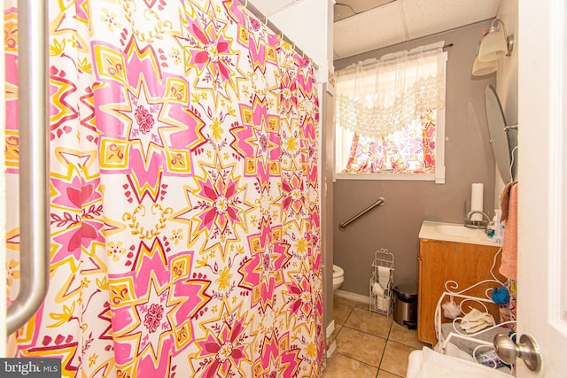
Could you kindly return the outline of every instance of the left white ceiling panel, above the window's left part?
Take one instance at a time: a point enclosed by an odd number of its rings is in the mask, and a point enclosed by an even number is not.
[[[381,46],[404,42],[406,35],[398,2],[341,19],[333,27],[335,58],[351,57]]]

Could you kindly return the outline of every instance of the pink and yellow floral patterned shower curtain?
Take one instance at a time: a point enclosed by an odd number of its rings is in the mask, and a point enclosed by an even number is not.
[[[236,0],[49,6],[50,289],[13,354],[77,377],[318,376],[311,64]],[[4,20],[16,193],[15,6]]]

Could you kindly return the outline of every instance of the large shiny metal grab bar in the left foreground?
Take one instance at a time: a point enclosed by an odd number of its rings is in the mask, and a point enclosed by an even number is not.
[[[19,260],[18,297],[8,307],[11,335],[43,303],[49,284],[49,103],[47,1],[18,1]]]

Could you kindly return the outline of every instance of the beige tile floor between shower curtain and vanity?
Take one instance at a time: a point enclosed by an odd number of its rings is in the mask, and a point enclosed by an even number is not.
[[[428,345],[417,340],[416,330],[394,322],[392,314],[369,312],[368,304],[335,296],[333,318],[337,350],[322,378],[405,377],[409,353]]]

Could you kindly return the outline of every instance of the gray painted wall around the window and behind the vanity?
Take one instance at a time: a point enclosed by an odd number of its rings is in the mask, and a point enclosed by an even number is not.
[[[447,49],[446,183],[432,181],[337,180],[334,184],[333,260],[345,270],[341,290],[369,296],[374,251],[387,248],[395,257],[394,282],[417,282],[419,228],[423,220],[462,223],[463,201],[470,206],[470,185],[484,183],[484,209],[493,216],[494,158],[485,120],[485,87],[495,75],[470,74],[483,21],[468,27],[400,43],[356,57],[335,61],[338,71],[366,58],[410,50],[444,40]],[[369,212],[345,231],[338,224],[384,197],[386,204]]]

